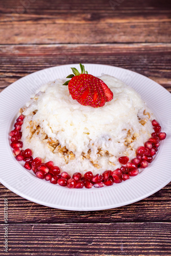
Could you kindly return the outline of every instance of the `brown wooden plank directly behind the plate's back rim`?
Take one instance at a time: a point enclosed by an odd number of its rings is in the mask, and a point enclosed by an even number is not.
[[[66,63],[101,63],[143,74],[171,91],[171,44],[0,46],[0,91],[37,70]]]

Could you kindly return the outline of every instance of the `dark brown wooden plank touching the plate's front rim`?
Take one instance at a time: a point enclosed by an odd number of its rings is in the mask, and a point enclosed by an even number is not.
[[[115,222],[168,222],[171,183],[154,195],[131,205],[101,211],[66,211],[30,202],[0,185],[0,203],[8,199],[8,223],[115,223]],[[22,213],[22,214],[21,214]],[[0,211],[0,223],[4,211]]]

